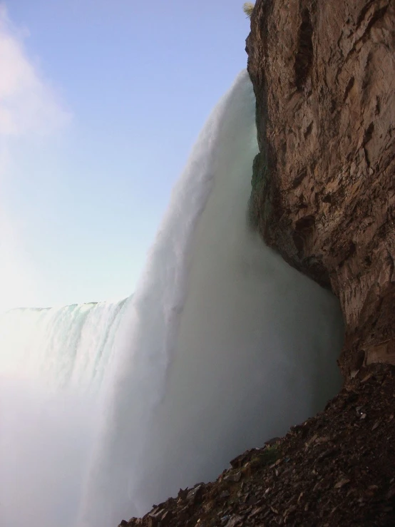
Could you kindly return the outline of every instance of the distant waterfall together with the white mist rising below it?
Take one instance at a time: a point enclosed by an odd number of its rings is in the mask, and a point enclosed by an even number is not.
[[[71,527],[127,300],[0,316],[1,527]]]

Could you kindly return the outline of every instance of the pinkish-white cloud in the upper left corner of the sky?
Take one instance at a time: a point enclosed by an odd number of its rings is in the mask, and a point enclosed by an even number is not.
[[[16,29],[0,5],[0,135],[51,133],[71,114],[26,53],[26,31]]]

